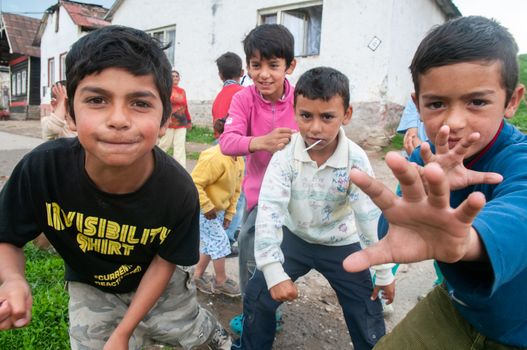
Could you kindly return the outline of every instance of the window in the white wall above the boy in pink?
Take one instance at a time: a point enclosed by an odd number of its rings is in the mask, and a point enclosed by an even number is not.
[[[322,1],[259,11],[260,24],[283,24],[295,38],[295,56],[320,53]]]

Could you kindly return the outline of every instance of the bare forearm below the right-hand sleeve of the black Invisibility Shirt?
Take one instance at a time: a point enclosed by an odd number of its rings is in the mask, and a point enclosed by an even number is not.
[[[135,328],[158,301],[170,282],[176,265],[156,255],[126,311],[123,319],[113,331],[104,349],[128,349],[128,341]]]

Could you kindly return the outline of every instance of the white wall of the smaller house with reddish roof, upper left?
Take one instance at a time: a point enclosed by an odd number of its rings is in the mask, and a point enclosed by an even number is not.
[[[40,97],[41,97],[41,116],[49,114],[49,102],[51,99],[51,89],[48,87],[48,59],[55,59],[55,81],[60,78],[60,55],[68,52],[71,45],[77,41],[81,33],[71,20],[71,17],[64,8],[60,8],[59,31],[55,32],[56,13],[48,16],[46,29],[42,33],[40,44]]]

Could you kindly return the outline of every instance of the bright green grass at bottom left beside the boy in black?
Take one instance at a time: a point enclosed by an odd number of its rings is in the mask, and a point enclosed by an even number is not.
[[[26,277],[33,291],[33,316],[28,327],[0,332],[2,349],[69,349],[68,294],[64,264],[33,244],[24,248]]]

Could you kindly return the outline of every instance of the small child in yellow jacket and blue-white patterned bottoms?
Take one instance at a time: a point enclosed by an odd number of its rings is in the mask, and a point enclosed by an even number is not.
[[[214,130],[221,134],[225,118],[216,120]],[[225,229],[236,213],[244,173],[242,157],[226,156],[218,145],[203,151],[192,171],[199,192],[200,258],[194,271],[196,287],[204,293],[240,295],[238,284],[225,273],[225,257],[231,253]],[[212,260],[214,278],[204,275]]]

